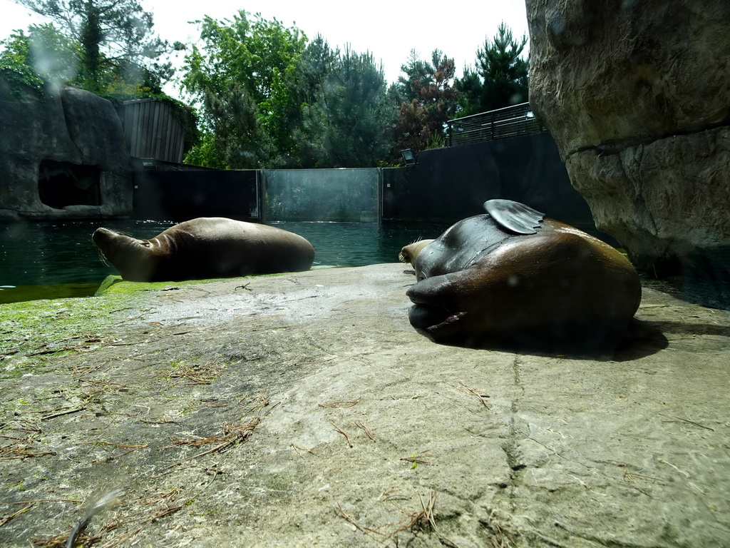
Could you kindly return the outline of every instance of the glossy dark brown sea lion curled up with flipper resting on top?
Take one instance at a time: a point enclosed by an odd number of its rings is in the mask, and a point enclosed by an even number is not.
[[[408,317],[438,343],[558,352],[610,351],[641,285],[607,243],[511,200],[485,202],[401,256],[415,269]]]

